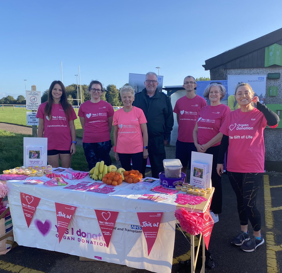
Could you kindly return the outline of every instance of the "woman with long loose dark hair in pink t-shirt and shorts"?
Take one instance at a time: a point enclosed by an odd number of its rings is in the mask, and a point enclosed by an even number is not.
[[[36,117],[39,119],[38,137],[47,137],[47,161],[54,168],[69,168],[71,156],[75,153],[76,113],[67,100],[65,86],[59,80],[51,83],[48,101],[39,105]],[[36,158],[36,152],[34,152]]]

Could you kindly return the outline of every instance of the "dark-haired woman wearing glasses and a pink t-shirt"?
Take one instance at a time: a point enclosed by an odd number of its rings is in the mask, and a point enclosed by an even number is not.
[[[103,87],[98,80],[92,80],[88,87],[91,99],[83,102],[78,110],[83,129],[82,145],[89,170],[99,161],[110,165],[111,137],[114,109],[101,100]]]

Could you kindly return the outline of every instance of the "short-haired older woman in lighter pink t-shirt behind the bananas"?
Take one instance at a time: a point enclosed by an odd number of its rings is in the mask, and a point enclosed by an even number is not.
[[[142,160],[148,157],[147,120],[140,108],[132,105],[134,90],[131,86],[120,89],[124,107],[114,112],[114,158],[120,161],[126,171],[141,172]]]

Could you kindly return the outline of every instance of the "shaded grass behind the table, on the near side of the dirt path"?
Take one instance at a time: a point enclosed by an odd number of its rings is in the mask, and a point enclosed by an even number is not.
[[[31,137],[31,135],[16,134],[0,130],[1,173],[3,170],[23,165],[23,137]],[[71,168],[74,170],[88,171],[88,164],[85,161],[83,148],[81,146],[76,146],[76,153],[72,156]]]

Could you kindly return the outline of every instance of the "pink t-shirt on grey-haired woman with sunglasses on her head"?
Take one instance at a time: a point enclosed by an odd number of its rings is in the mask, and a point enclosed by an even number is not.
[[[198,143],[206,144],[219,133],[219,128],[230,112],[227,105],[205,106],[201,109],[198,118]],[[220,141],[213,146],[218,146]],[[213,147],[212,146],[212,147]]]

